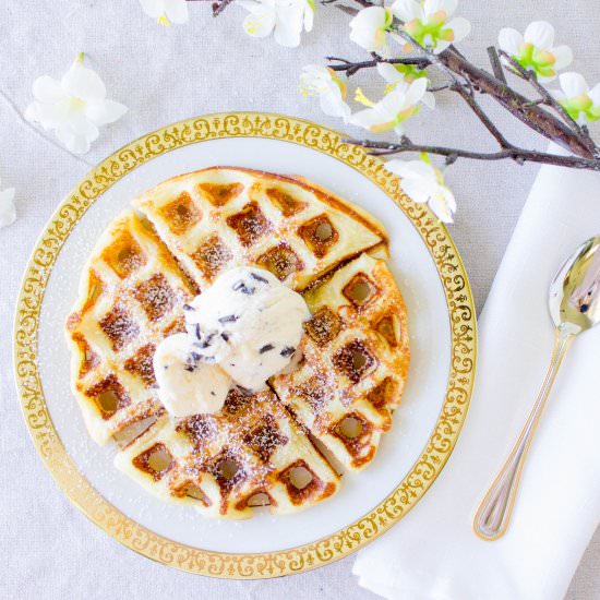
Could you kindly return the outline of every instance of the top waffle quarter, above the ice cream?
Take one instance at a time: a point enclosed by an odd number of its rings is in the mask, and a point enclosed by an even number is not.
[[[133,201],[201,289],[226,268],[253,265],[296,290],[348,259],[386,245],[371,215],[304,180],[211,168]]]

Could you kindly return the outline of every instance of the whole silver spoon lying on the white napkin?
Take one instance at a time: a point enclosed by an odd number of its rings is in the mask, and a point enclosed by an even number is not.
[[[475,516],[475,532],[483,540],[506,532],[525,457],[561,362],[575,336],[600,322],[600,236],[583,243],[561,267],[550,286],[549,305],[555,325],[552,360],[527,422]]]

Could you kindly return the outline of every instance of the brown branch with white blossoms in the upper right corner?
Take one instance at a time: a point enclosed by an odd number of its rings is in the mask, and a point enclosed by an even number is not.
[[[335,1],[322,0],[323,3]],[[589,87],[579,73],[564,73],[556,93],[541,84],[556,77],[556,72],[573,60],[568,46],[554,44],[551,24],[533,22],[523,34],[512,27],[502,28],[497,38],[500,51],[490,46],[491,69],[482,69],[454,46],[471,27],[466,19],[454,15],[456,0],[403,0],[392,5],[385,5],[382,0],[353,1],[360,9],[341,3],[336,3],[336,8],[352,17],[350,39],[371,55],[369,60],[327,57],[327,68],[309,64],[300,76],[301,91],[307,96],[317,96],[326,115],[340,117],[346,123],[371,132],[394,131],[400,136],[396,143],[356,139],[345,140],[346,143],[362,146],[374,156],[420,154],[419,159],[388,160],[385,169],[398,176],[403,190],[416,203],[427,203],[437,218],[453,223],[457,205],[445,184],[443,169],[435,166],[430,155],[444,157],[446,165],[459,158],[508,159],[519,165],[537,163],[600,172],[600,147],[587,127],[580,124],[600,120],[600,83]],[[396,57],[391,55],[392,38],[401,45]],[[408,51],[410,56],[406,55]],[[372,68],[387,82],[385,94],[380,100],[373,100],[357,87],[355,100],[365,108],[353,112],[346,101],[348,86],[337,73],[350,77]],[[432,68],[443,75],[435,84],[431,81]],[[508,73],[528,82],[536,94],[524,95],[513,88]],[[404,135],[405,121],[416,115],[421,105],[434,108],[433,92],[443,89],[460,96],[497,144],[495,152],[419,144]],[[480,104],[479,96],[483,95],[569,154],[538,152],[509,142]]]

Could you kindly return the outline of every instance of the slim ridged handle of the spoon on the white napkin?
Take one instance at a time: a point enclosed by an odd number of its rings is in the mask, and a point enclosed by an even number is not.
[[[527,451],[545,406],[545,400],[575,336],[556,329],[554,350],[538,398],[508,458],[481,501],[473,519],[475,532],[483,540],[497,540],[506,532],[515,504]]]

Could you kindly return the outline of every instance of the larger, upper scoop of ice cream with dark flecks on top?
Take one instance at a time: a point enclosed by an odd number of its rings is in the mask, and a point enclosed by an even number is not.
[[[201,360],[218,363],[252,392],[289,364],[310,316],[299,293],[254,267],[225,272],[185,310]]]

